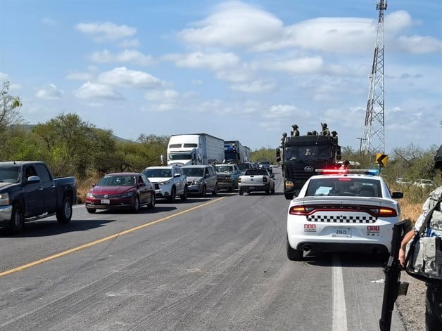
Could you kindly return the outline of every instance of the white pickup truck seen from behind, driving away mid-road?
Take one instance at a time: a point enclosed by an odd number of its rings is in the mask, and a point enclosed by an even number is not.
[[[274,193],[274,174],[270,174],[267,169],[248,169],[244,175],[239,176],[239,195],[257,191]]]

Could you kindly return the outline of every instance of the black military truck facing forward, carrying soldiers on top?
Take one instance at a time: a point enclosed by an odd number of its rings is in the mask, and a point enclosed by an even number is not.
[[[287,200],[293,199],[295,190],[301,189],[316,169],[337,167],[341,160],[341,147],[331,136],[287,136],[276,152]]]

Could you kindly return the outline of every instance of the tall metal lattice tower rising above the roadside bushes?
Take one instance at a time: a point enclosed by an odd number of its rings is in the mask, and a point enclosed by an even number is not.
[[[372,74],[370,74],[370,91],[365,113],[364,137],[362,138],[362,152],[372,154],[385,151],[384,141],[384,11],[387,0],[377,0],[376,9],[379,10],[377,25],[376,46]]]

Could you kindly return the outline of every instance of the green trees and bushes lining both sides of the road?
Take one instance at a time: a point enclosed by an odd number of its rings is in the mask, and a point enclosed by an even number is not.
[[[141,134],[137,141],[125,141],[115,137],[112,130],[99,129],[71,113],[61,113],[45,123],[27,126],[20,115],[21,100],[11,96],[9,86],[9,82],[4,82],[0,89],[0,160],[42,160],[51,167],[54,176],[75,176],[80,202],[103,174],[142,171],[159,165],[160,155],[166,153],[169,136]],[[432,169],[437,148],[436,145],[428,150],[415,145],[395,148],[381,171],[391,190],[404,192],[405,217],[417,218],[429,189],[398,187],[396,178],[432,179],[436,185],[442,185],[440,175]],[[376,166],[376,155],[363,155],[350,147],[342,147],[342,157],[359,162],[361,168]],[[261,160],[276,164],[274,148],[252,151],[251,161]],[[408,208],[415,211],[408,212]]]

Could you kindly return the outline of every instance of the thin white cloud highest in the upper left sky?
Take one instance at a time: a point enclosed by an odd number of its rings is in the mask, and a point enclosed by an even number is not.
[[[132,37],[137,29],[127,25],[115,25],[112,22],[103,23],[79,23],[75,29],[84,34],[94,37],[95,41],[113,41]]]

